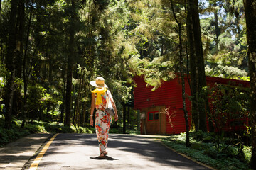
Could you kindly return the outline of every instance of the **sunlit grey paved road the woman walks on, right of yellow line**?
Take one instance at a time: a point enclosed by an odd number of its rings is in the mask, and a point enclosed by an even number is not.
[[[59,134],[38,165],[39,169],[207,169],[143,135],[110,134],[106,159],[100,154],[95,134]],[[36,155],[26,164],[33,162]]]

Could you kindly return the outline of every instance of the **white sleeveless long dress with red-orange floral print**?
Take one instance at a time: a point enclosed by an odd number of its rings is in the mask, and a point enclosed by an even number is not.
[[[108,133],[109,133],[110,125],[112,122],[112,116],[105,111],[105,106],[107,103],[106,93],[101,94],[102,103],[100,103],[99,105],[95,104],[95,108],[96,108],[95,129],[97,134],[97,140],[99,142],[100,152],[105,152],[105,149],[107,148]],[[97,94],[95,94],[95,103],[96,103],[96,98],[97,98]]]

